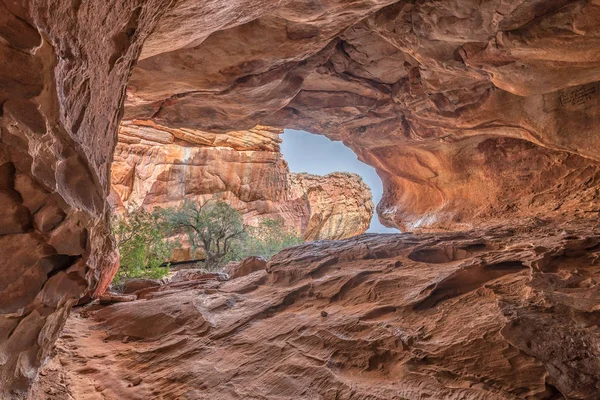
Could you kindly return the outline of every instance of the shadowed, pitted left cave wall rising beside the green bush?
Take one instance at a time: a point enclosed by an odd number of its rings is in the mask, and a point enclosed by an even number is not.
[[[0,397],[29,386],[71,306],[114,273],[114,133],[166,2],[47,3],[0,2]]]

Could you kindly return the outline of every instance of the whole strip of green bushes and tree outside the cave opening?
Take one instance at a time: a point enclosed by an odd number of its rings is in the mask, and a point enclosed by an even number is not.
[[[134,207],[114,220],[114,233],[121,254],[121,267],[114,284],[132,278],[161,278],[163,265],[178,243],[168,240],[185,234],[192,253],[202,249],[203,267],[216,270],[227,261],[248,256],[271,258],[282,249],[300,244],[302,237],[289,231],[282,219],[264,220],[258,227],[246,227],[242,214],[219,200],[204,204],[185,201],[177,208],[145,211]]]

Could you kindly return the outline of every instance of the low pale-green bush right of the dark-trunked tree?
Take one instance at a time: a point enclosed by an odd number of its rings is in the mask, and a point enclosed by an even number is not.
[[[248,228],[248,238],[238,259],[261,256],[268,260],[286,247],[304,243],[302,236],[285,227],[283,219],[266,219],[257,228]]]

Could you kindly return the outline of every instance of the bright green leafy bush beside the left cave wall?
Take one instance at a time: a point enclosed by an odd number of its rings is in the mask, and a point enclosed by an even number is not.
[[[113,220],[113,232],[119,246],[121,266],[113,280],[116,286],[133,278],[162,278],[169,268],[162,265],[169,260],[176,243],[165,239],[169,225],[164,211],[146,211],[132,207]]]

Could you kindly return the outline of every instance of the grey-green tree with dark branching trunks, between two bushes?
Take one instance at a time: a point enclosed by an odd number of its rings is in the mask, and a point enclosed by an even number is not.
[[[204,250],[208,270],[218,269],[230,259],[246,236],[242,214],[223,201],[198,204],[186,200],[169,214],[174,231],[185,233],[193,250]]]

